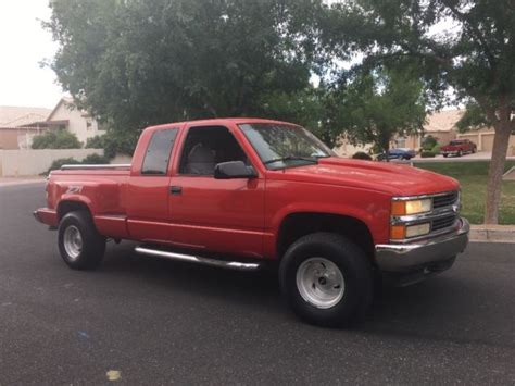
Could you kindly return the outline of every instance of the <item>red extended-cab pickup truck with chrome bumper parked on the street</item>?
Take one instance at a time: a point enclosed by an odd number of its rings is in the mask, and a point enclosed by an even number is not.
[[[150,257],[276,266],[299,316],[337,326],[363,315],[376,278],[449,269],[468,241],[459,209],[452,178],[338,158],[294,124],[221,119],[147,128],[130,165],[52,172],[34,214],[59,228],[72,269],[97,267],[106,239]]]

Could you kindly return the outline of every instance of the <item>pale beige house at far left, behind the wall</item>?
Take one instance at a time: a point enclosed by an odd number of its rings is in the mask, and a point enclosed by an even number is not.
[[[70,130],[83,146],[88,138],[105,134],[88,112],[76,108],[68,98],[62,98],[53,110],[0,107],[1,149],[30,148],[33,137],[48,129]]]

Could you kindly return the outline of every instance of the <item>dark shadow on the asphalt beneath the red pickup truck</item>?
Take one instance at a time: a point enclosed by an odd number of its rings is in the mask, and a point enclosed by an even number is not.
[[[158,290],[197,296],[198,301],[214,298],[238,307],[261,309],[263,317],[271,323],[278,317],[287,319],[292,325],[301,323],[281,301],[273,272],[235,272],[141,257],[133,252],[133,247],[129,244],[111,247],[101,269],[103,274],[128,275],[131,281],[145,282]],[[504,321],[488,325],[488,320],[499,312],[485,315],[489,307],[494,307],[488,304],[491,294],[482,283],[464,275],[456,269],[409,287],[381,287],[367,316],[353,331],[365,335],[482,341],[489,331],[497,328],[495,324],[507,328]],[[137,285],[135,283],[135,287]]]

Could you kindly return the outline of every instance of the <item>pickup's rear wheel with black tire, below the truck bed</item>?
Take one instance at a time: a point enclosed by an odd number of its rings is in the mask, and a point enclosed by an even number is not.
[[[66,231],[68,229],[68,231]],[[79,233],[80,248],[66,239],[73,238],[72,234]],[[95,270],[100,265],[105,252],[105,237],[100,235],[95,227],[91,215],[87,211],[70,212],[59,223],[59,251],[64,262],[72,270]],[[66,248],[66,244],[68,247]],[[77,254],[72,254],[77,250]]]

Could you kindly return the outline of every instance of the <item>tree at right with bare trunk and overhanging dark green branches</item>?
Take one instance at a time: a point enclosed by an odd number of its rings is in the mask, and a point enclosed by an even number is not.
[[[515,128],[515,4],[512,0],[349,0],[326,9],[321,41],[339,58],[364,63],[409,60],[432,95],[452,88],[495,130],[486,223],[498,223],[501,183]],[[470,114],[465,114],[469,120]]]

